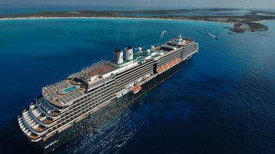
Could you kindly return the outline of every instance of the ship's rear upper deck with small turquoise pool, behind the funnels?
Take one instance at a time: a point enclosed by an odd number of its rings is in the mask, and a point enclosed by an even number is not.
[[[115,69],[111,61],[100,61],[71,74],[65,80],[42,88],[42,95],[56,106],[69,105],[84,96],[88,89],[104,83],[103,75]]]

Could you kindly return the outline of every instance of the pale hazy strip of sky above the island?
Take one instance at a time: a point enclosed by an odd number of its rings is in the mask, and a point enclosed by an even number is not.
[[[213,7],[213,8],[269,8],[275,0],[0,0],[1,4],[54,4],[131,7]],[[0,6],[1,7],[1,6]],[[0,8],[1,9],[1,8]]]

